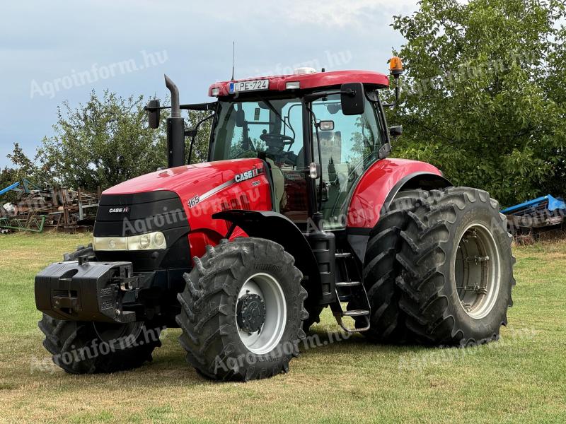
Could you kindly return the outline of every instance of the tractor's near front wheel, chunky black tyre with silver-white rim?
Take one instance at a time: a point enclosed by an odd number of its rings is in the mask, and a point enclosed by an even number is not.
[[[302,325],[308,317],[304,309],[307,293],[294,258],[275,242],[246,237],[222,240],[194,261],[195,268],[185,273],[185,290],[178,294],[181,312],[177,323],[183,329],[179,341],[187,352],[187,362],[211,379],[247,381],[287,372],[289,360],[299,355],[299,342],[305,338]],[[281,294],[276,298],[282,303],[275,302],[279,305],[275,309],[284,310],[284,315],[272,314],[265,285],[261,286],[257,293],[265,301],[265,321],[255,323],[255,328],[260,328],[258,343],[248,343],[256,331],[242,333],[238,308],[243,308],[244,285],[252,281],[260,287],[258,276],[264,283],[271,282],[274,293]],[[278,320],[282,326],[271,326]],[[265,332],[269,328],[272,333]],[[265,343],[261,336],[265,336]]]

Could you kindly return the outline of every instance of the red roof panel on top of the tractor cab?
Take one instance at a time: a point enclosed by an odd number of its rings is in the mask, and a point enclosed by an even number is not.
[[[233,95],[234,93],[231,92],[231,84],[258,80],[269,81],[269,88],[264,89],[264,92],[283,92],[287,90],[297,89],[310,90],[313,88],[328,88],[332,86],[340,86],[344,83],[364,83],[371,86],[376,86],[376,88],[388,88],[389,86],[389,78],[383,73],[373,71],[332,71],[298,74],[295,73],[292,75],[279,76],[258,76],[253,78],[238,79],[235,81],[221,81],[210,86],[208,95],[211,97]],[[299,88],[287,88],[287,83],[299,83]]]

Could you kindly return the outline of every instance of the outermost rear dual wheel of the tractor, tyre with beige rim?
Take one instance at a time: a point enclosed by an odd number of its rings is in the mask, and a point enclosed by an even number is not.
[[[415,341],[473,346],[499,338],[515,281],[497,201],[468,187],[433,190],[408,218],[395,282]]]

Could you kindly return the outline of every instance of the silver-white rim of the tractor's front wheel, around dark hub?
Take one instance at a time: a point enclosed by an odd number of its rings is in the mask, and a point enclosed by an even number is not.
[[[260,302],[265,305],[265,319],[258,331],[250,332],[241,329],[238,322],[242,317],[238,317],[238,310],[241,310],[241,303],[246,301],[250,295],[254,299],[260,298]],[[250,276],[243,283],[238,294],[238,305],[236,306],[236,325],[240,340],[248,348],[248,351],[261,355],[272,351],[283,336],[287,324],[287,304],[285,295],[277,279],[267,273],[256,273]]]

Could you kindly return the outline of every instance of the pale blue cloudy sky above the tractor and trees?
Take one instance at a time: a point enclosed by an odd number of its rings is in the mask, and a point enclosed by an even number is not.
[[[387,72],[403,38],[391,28],[417,0],[10,1],[0,16],[0,167],[20,143],[33,157],[52,136],[57,106],[91,90],[124,97],[168,91],[207,101],[231,76],[291,73],[296,66]]]

